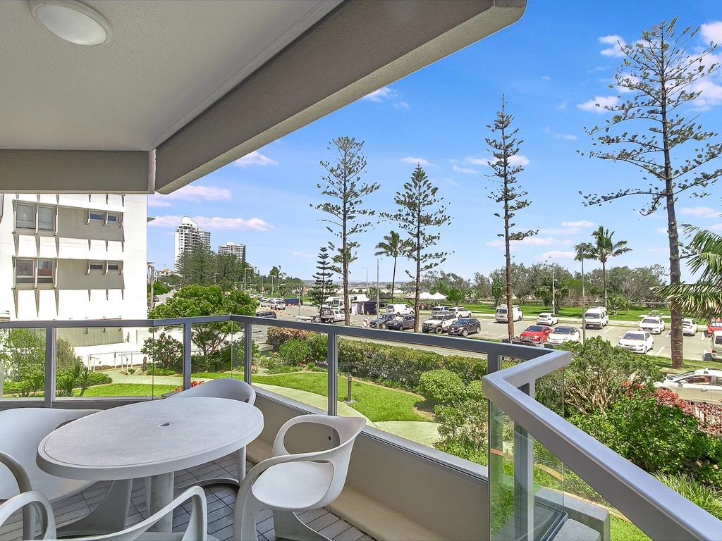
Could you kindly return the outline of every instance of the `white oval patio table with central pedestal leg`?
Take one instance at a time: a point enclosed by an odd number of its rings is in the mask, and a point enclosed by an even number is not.
[[[263,428],[261,410],[238,400],[151,400],[57,428],[40,442],[37,462],[46,472],[69,479],[151,477],[153,514],[173,500],[173,472],[235,452]],[[154,529],[170,532],[172,522],[168,514]]]

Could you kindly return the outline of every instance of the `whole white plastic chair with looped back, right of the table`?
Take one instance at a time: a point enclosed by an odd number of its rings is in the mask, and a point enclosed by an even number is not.
[[[316,423],[334,428],[339,445],[326,451],[290,454],[284,438],[292,426]],[[366,424],[362,417],[300,415],[279,430],[271,458],[258,462],[248,472],[235,502],[233,539],[257,541],[256,515],[273,510],[276,537],[297,541],[329,541],[303,524],[295,511],[320,509],[339,497],[356,436]]]

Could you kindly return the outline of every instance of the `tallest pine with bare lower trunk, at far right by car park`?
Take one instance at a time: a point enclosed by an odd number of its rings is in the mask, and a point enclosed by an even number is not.
[[[699,30],[699,29],[697,29]],[[585,195],[587,205],[614,201],[627,195],[643,195],[648,203],[640,214],[653,214],[666,208],[667,235],[669,237],[669,281],[676,286],[681,281],[679,268],[679,231],[675,203],[679,195],[697,188],[695,195],[707,194],[707,188],[720,175],[722,169],[711,172],[701,168],[722,154],[722,144],[710,143],[716,133],[703,131],[697,113],[692,117],[679,114],[680,108],[694,110],[693,102],[702,94],[698,82],[718,69],[705,58],[716,50],[709,48],[687,51],[690,39],[697,33],[690,27],[677,33],[677,17],[661,22],[651,30],[644,30],[640,40],[632,45],[621,45],[622,66],[614,76],[617,88],[631,95],[619,105],[605,107],[612,111],[612,120],[606,126],[588,130],[600,146],[612,146],[612,151],[591,151],[590,157],[627,162],[643,172],[643,188],[622,188],[606,195]],[[621,97],[621,95],[619,96]],[[598,104],[599,105],[599,104]],[[627,124],[646,126],[648,133],[630,133]],[[619,128],[622,133],[610,133]],[[586,129],[586,128],[585,128]],[[692,141],[694,151],[682,146]],[[675,297],[676,299],[676,297]],[[682,357],[682,310],[671,304],[671,360],[674,368],[684,366]]]

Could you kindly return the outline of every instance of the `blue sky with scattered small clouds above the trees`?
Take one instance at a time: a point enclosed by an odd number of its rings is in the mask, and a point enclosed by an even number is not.
[[[380,190],[366,198],[368,208],[394,211],[393,197],[421,164],[438,195],[448,204],[449,224],[439,229],[438,249],[452,252],[439,268],[472,278],[504,265],[503,221],[488,198],[495,188],[488,175],[485,138],[500,108],[515,117],[523,140],[518,185],[531,201],[519,211],[519,229],[539,234],[513,246],[513,260],[531,265],[553,258],[577,270],[573,245],[591,242],[604,226],[615,240],[627,240],[632,252],[610,266],[661,263],[669,266],[666,211],[638,214],[642,195],[586,208],[578,193],[607,193],[642,187],[640,171],[630,164],[584,157],[592,139],[585,127],[604,123],[612,113],[596,103],[613,105],[610,89],[621,58],[617,43],[634,43],[641,32],[679,16],[680,29],[702,27],[689,52],[722,43],[718,0],[529,0],[515,25],[373,92],[170,195],[149,196],[148,258],[158,268],[173,267],[173,231],[184,214],[212,232],[212,248],[228,241],[246,245],[248,263],[268,273],[310,279],[316,255],[334,237],[316,206],[329,201],[317,185],[332,158],[329,142],[339,136],[364,141],[367,167],[363,180]],[[701,50],[701,49],[700,49]],[[716,56],[722,60],[722,49]],[[722,69],[703,79],[703,94],[686,115],[699,115],[705,130],[722,132]],[[622,99],[626,96],[622,95]],[[722,136],[721,136],[722,137]],[[721,138],[716,138],[720,141]],[[690,144],[691,146],[691,144]],[[722,167],[722,158],[706,168]],[[678,220],[722,231],[722,180],[706,198],[690,193],[677,202]],[[355,236],[358,259],[351,280],[376,279],[375,245],[398,229],[388,221]],[[380,259],[380,280],[391,281],[392,261]],[[589,262],[586,268],[595,268]],[[366,269],[368,268],[368,269]],[[397,279],[408,279],[409,260],[399,260]],[[683,276],[684,279],[684,276]]]

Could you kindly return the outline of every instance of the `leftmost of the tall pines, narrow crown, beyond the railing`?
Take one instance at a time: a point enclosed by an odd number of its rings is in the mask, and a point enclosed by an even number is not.
[[[374,193],[380,185],[361,182],[361,175],[365,172],[366,157],[362,154],[363,141],[357,143],[354,138],[339,137],[331,141],[334,146],[336,163],[321,162],[321,167],[329,174],[323,177],[323,185],[318,184],[322,195],[326,195],[338,203],[321,203],[313,206],[316,210],[330,214],[331,218],[323,219],[329,226],[326,229],[338,237],[339,245],[329,242],[332,252],[335,252],[334,262],[339,264],[344,289],[344,322],[351,325],[351,312],[349,311],[349,265],[356,260],[358,242],[352,241],[352,235],[366,232],[370,221],[360,221],[365,216],[373,216],[375,211],[365,208],[364,199]],[[331,151],[331,147],[329,147]]]

